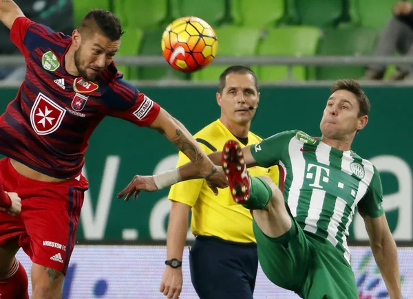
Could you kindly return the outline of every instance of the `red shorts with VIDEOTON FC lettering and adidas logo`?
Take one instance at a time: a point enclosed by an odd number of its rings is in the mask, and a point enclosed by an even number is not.
[[[0,245],[18,243],[33,263],[66,274],[87,179],[36,181],[17,173],[8,157],[0,159],[0,175],[4,190],[21,198],[18,217],[0,212]]]

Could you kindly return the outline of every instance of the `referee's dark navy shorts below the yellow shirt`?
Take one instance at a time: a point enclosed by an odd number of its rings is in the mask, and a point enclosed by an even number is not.
[[[258,268],[255,243],[197,236],[189,251],[189,267],[200,299],[253,299]]]

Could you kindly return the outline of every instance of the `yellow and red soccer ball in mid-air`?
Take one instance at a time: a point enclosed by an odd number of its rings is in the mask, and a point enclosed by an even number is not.
[[[162,34],[162,54],[174,69],[198,71],[214,60],[218,41],[213,28],[195,16],[176,19]]]

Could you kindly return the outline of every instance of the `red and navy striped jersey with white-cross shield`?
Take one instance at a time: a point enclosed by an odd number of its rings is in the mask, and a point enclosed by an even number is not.
[[[67,73],[72,38],[21,16],[10,30],[27,64],[17,97],[0,117],[0,153],[58,178],[81,173],[88,140],[106,115],[138,126],[160,107],[122,79],[114,63],[95,82]]]

